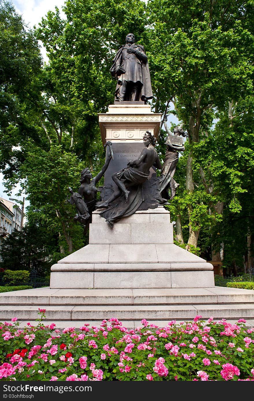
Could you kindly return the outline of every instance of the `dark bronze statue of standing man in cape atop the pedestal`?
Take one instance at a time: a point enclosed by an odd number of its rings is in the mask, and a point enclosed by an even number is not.
[[[126,36],[114,58],[111,74],[117,79],[115,100],[146,101],[152,99],[152,87],[144,47],[136,45],[133,33]]]

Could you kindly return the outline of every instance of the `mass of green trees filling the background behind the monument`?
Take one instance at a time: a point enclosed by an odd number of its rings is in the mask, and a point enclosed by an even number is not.
[[[33,32],[13,6],[0,6],[0,168],[8,191],[20,184],[27,194],[28,222],[43,231],[44,262],[87,244],[65,201],[67,187],[77,190],[84,167],[94,176],[104,164],[97,115],[113,102],[109,69],[133,32],[148,55],[154,110],[164,112],[171,99],[188,134],[171,220],[181,217],[193,253],[199,248],[211,259],[223,244],[224,266],[229,271],[234,261],[243,270],[243,256],[254,251],[246,241],[254,235],[252,3],[68,0],[63,10],[66,19],[56,8]],[[44,67],[35,36],[47,49]],[[162,158],[165,135],[157,146]],[[17,268],[17,258],[4,263]]]

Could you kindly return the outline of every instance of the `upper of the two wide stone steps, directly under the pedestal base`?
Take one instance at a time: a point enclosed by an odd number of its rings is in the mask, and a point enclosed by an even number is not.
[[[238,288],[52,289],[0,293],[0,305],[189,305],[254,303],[253,290]]]

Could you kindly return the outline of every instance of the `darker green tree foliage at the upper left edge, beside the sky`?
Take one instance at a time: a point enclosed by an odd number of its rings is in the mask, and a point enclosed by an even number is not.
[[[12,4],[4,1],[0,3],[0,54],[0,129],[6,134],[9,124],[18,120],[20,103],[30,95],[30,81],[41,67],[41,56],[33,32]]]

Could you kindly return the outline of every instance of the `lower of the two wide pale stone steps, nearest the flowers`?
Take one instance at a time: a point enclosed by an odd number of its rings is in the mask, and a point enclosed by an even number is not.
[[[246,304],[188,304],[188,305],[5,305],[0,311],[0,321],[17,317],[18,320],[34,321],[38,309],[46,309],[47,320],[193,320],[195,316],[215,319],[254,318],[254,303]]]

